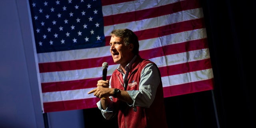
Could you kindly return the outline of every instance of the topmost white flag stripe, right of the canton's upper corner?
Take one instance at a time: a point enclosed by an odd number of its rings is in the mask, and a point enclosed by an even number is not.
[[[126,12],[134,12],[138,10],[163,6],[166,4],[172,4],[179,1],[183,0],[134,0],[129,2],[102,6],[102,14],[103,16],[110,16]]]

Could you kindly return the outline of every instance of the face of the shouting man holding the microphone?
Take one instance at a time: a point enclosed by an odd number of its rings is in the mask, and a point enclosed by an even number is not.
[[[122,38],[112,36],[110,39],[110,53],[114,63],[126,65],[130,61],[131,50],[128,46],[124,45]],[[130,55],[130,56],[129,56]]]

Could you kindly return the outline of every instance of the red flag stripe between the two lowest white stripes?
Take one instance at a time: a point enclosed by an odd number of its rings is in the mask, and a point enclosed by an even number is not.
[[[161,76],[170,76],[175,74],[193,72],[197,70],[205,70],[212,68],[210,59],[198,60],[194,62],[187,62],[182,64],[176,64],[172,66],[160,67]],[[107,76],[107,80],[110,76]],[[101,78],[92,78],[84,80],[74,80],[74,81],[63,81],[63,82],[50,82],[42,83],[42,92],[56,92],[56,91],[66,91],[66,90],[76,90],[84,88],[94,88],[96,87],[97,81]]]

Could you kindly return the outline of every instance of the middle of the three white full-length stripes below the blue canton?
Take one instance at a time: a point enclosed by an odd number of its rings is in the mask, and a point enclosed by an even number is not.
[[[179,54],[172,54],[168,56],[156,57],[150,60],[155,62],[158,65],[158,67],[162,67],[162,66],[170,66],[170,65],[181,64],[185,62],[191,62],[191,61],[208,59],[208,58],[210,58],[210,54],[207,48],[207,49],[183,52]],[[114,72],[117,66],[118,64],[109,65],[107,76],[111,76],[112,72]],[[41,78],[41,83],[98,78],[102,76],[102,72],[98,72],[100,70],[102,70],[102,67],[86,68],[81,70],[60,71],[60,72],[45,72],[45,73],[40,73],[40,78]]]

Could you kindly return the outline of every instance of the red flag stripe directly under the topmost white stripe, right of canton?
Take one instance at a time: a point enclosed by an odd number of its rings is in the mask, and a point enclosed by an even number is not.
[[[103,20],[104,20],[104,26],[109,26],[114,24],[121,24],[121,23],[144,20],[144,19],[158,17],[158,16],[164,16],[167,14],[172,14],[175,12],[180,12],[182,10],[189,10],[194,8],[200,8],[200,4],[196,0],[181,1],[181,2],[176,2],[172,4],[167,4],[164,6],[158,6],[158,7],[144,9],[144,10],[137,10],[134,12],[126,12],[123,14],[104,16]]]

